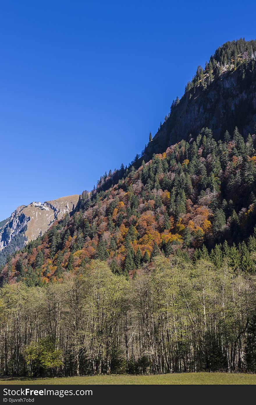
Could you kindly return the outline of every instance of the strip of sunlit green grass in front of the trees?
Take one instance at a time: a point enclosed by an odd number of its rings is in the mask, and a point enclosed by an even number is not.
[[[0,377],[0,384],[256,384],[256,374],[182,373],[163,375],[95,375],[87,377]]]

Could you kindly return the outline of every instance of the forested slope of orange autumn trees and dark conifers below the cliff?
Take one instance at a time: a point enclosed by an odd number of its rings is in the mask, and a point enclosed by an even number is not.
[[[95,258],[128,277],[159,254],[189,260],[216,243],[249,241],[255,226],[256,135],[244,142],[235,128],[217,143],[203,128],[108,190],[83,193],[73,215],[29,243],[2,277],[48,282]]]

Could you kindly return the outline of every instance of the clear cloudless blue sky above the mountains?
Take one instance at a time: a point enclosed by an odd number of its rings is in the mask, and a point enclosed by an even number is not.
[[[253,0],[1,2],[0,220],[128,164],[199,64],[256,38],[255,11]]]

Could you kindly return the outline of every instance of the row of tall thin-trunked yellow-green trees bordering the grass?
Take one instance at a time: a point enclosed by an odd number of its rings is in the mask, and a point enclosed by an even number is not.
[[[160,254],[129,280],[91,260],[62,282],[6,283],[0,373],[255,372],[255,271],[225,249],[194,263]]]

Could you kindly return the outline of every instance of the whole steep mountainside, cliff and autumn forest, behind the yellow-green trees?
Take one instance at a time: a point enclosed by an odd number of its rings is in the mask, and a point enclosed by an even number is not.
[[[2,277],[47,282],[94,258],[128,276],[159,252],[193,258],[225,240],[247,241],[256,224],[255,60],[256,41],[219,48],[142,156],[105,173]]]

